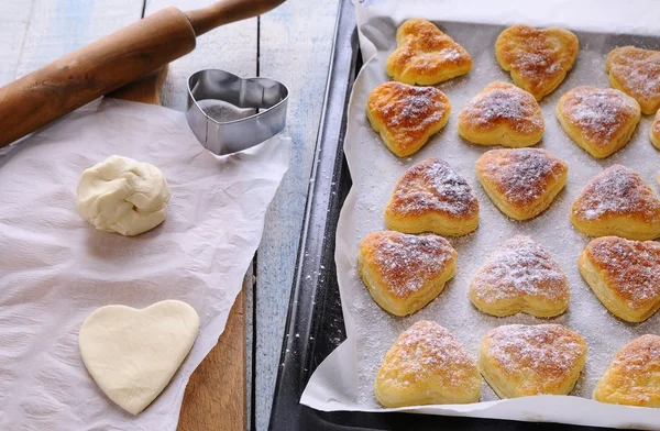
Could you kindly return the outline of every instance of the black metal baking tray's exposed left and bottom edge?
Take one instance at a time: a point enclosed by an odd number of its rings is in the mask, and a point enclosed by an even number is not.
[[[548,422],[394,412],[324,412],[299,404],[314,371],[346,338],[334,266],[334,233],[352,184],[343,155],[343,140],[349,98],[361,67],[354,5],[351,0],[340,0],[268,429],[603,430]]]

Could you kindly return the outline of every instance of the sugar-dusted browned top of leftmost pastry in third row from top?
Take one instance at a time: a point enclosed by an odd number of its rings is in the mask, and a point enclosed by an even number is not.
[[[466,218],[479,211],[479,202],[468,181],[438,158],[426,159],[409,168],[397,184],[391,206],[403,217],[437,211]]]

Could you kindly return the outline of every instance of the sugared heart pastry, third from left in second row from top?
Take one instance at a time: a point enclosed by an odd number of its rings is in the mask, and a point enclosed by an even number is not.
[[[625,92],[590,86],[563,95],[556,112],[566,134],[598,158],[626,146],[641,117],[637,100]]]

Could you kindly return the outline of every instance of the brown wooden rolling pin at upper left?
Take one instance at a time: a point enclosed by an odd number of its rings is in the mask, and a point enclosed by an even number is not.
[[[167,8],[0,88],[0,148],[195,48],[197,36],[284,0],[221,0]]]

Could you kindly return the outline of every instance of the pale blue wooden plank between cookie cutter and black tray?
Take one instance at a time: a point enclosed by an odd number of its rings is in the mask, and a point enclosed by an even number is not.
[[[337,7],[337,0],[289,0],[260,20],[260,75],[285,82],[292,91],[286,133],[293,137],[294,150],[289,170],[266,214],[257,251],[257,430],[267,428],[273,402]]]

